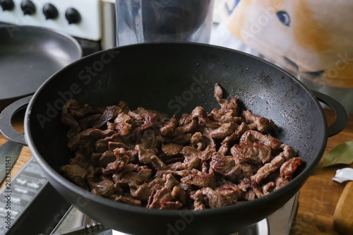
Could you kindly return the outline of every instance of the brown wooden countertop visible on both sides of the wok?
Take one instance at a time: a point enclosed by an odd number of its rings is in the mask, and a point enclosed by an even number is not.
[[[335,119],[334,113],[327,110],[325,113],[328,123],[331,123]],[[16,130],[23,132],[23,117],[19,115],[14,118],[13,125]],[[349,123],[344,131],[328,138],[326,151],[349,140],[353,140],[353,114],[349,116]],[[0,133],[0,145],[3,145],[6,141],[4,135]],[[20,157],[18,157],[11,170],[11,176],[15,176],[31,157],[29,148],[23,147]],[[322,161],[318,164],[318,167],[301,188],[299,210],[292,227],[292,234],[338,234],[333,230],[333,212],[345,183],[337,183],[332,180],[332,177],[335,176],[337,169],[343,167],[347,166],[322,167]],[[353,164],[349,167],[353,167]],[[1,183],[0,188],[3,187],[4,182]]]

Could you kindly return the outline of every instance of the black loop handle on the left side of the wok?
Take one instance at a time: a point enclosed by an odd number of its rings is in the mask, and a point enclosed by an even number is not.
[[[21,109],[24,109],[30,103],[30,99],[32,99],[32,95],[28,97],[24,97],[12,104],[8,105],[0,114],[0,131],[3,135],[15,143],[20,145],[27,145],[25,141],[25,135],[16,131],[12,124],[11,119],[13,115],[15,115]]]

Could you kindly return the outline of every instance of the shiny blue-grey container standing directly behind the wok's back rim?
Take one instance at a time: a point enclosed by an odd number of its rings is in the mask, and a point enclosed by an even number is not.
[[[214,0],[116,0],[118,46],[142,42],[209,43]]]

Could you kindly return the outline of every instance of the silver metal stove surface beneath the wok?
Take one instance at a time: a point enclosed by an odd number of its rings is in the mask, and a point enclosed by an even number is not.
[[[299,193],[273,215],[232,235],[289,234],[298,198]],[[104,227],[68,204],[49,184],[34,158],[11,179],[11,186],[0,192],[0,204],[6,205],[0,207],[0,234],[123,234]]]

